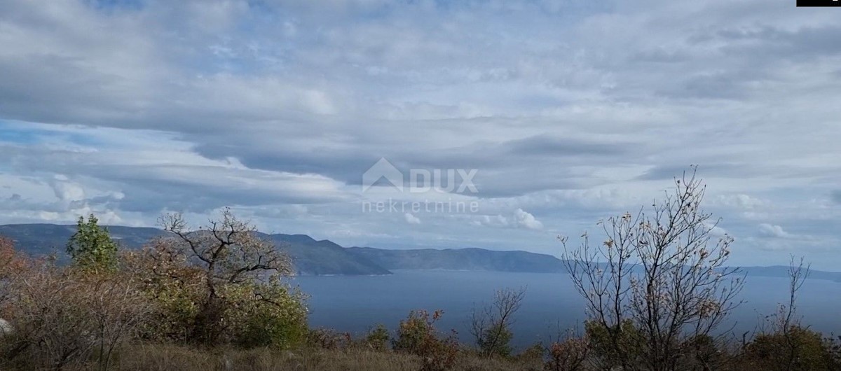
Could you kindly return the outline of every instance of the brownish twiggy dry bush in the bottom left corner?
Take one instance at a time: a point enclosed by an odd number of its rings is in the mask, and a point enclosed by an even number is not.
[[[9,367],[66,369],[95,363],[105,370],[115,347],[135,338],[148,306],[135,282],[119,274],[86,274],[35,264],[10,282],[14,332]]]

